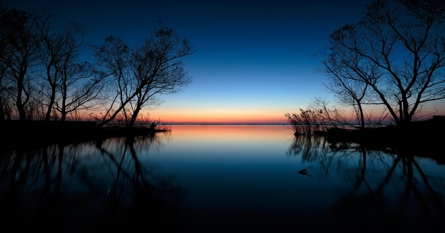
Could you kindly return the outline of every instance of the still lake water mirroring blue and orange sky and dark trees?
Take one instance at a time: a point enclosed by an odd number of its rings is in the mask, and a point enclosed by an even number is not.
[[[172,126],[1,151],[0,232],[444,229],[445,165],[287,126]]]

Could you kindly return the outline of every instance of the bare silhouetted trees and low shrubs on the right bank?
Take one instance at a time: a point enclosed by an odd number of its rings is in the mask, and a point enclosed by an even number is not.
[[[316,55],[326,88],[352,114],[316,97],[299,114],[285,114],[287,120],[360,129],[384,120],[410,124],[427,104],[445,99],[444,12],[441,0],[374,1],[360,22],[334,30]],[[365,112],[369,106],[383,106],[384,112],[374,116]]]

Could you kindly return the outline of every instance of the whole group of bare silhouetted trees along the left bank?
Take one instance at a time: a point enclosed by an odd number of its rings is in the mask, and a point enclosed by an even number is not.
[[[131,127],[160,95],[191,82],[182,59],[188,40],[158,22],[150,37],[130,46],[110,35],[85,44],[78,23],[52,25],[52,14],[0,6],[0,121],[88,119]],[[90,49],[94,62],[82,61]],[[87,119],[87,120],[88,120]]]

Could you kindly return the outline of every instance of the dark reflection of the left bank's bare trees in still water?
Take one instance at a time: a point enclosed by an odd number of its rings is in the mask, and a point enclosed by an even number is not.
[[[140,157],[159,150],[164,139],[112,138],[2,153],[2,229],[66,232],[174,226],[184,191],[173,177],[158,174]]]

